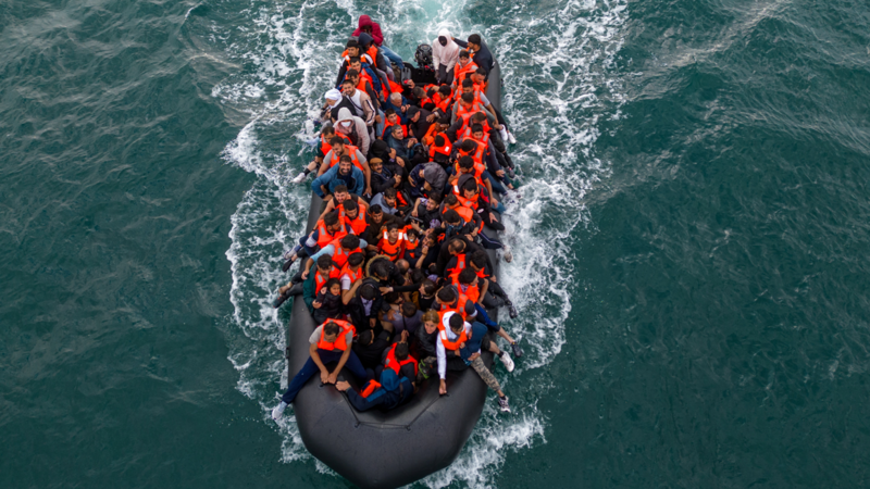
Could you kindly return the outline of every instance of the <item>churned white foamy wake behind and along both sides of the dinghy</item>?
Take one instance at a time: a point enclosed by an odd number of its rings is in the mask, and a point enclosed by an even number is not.
[[[514,414],[498,416],[495,402],[487,402],[459,459],[422,484],[489,487],[508,452],[546,441],[547,421],[536,399],[552,386],[540,367],[561,351],[571,297],[583,286],[572,230],[588,224],[584,196],[609,175],[594,145],[599,121],[619,117],[621,84],[611,65],[622,46],[626,4],[401,0],[370,8],[350,0],[306,0],[252,2],[240,11],[210,5],[210,23],[197,20],[241,66],[212,96],[250,114],[223,153],[227,163],[256,175],[231,217],[226,256],[234,314],[224,327],[229,361],[239,373],[237,388],[260,404],[263,423],[274,423],[269,412],[287,384],[283,330],[289,314],[271,305],[288,278],[278,260],[303,231],[310,202],[309,187],[288,180],[313,155],[307,142],[316,135],[312,109],[334,82],[337,53],[365,13],[381,22],[390,47],[409,60],[417,43],[434,38],[443,26],[457,35],[484,36],[501,65],[502,110],[519,141],[511,155],[523,175],[505,216],[514,260],[499,277],[520,311],[520,317],[502,324],[526,351],[513,374],[496,369]],[[279,425],[281,459],[312,461],[290,411]],[[332,473],[319,462],[315,466]]]

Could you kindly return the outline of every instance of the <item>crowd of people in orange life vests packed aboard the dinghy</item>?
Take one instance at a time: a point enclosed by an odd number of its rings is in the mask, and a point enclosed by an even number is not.
[[[314,174],[311,190],[324,204],[284,254],[284,272],[300,265],[274,302],[301,287],[319,326],[275,419],[316,374],[365,411],[400,405],[430,378],[445,394],[447,372],[467,368],[510,412],[481,358],[492,352],[512,372],[511,354],[523,354],[487,314],[504,305],[517,316],[486,251],[512,260],[496,231],[515,185],[507,153],[515,140],[486,98],[487,84],[500,80],[489,79],[494,60],[478,34],[463,40],[442,29],[414,61],[406,65],[362,15],[325,93],[316,156],[294,179]],[[359,390],[338,378],[344,367]]]

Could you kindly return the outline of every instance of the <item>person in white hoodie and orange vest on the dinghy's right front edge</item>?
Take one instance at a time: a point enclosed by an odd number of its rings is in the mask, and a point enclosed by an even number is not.
[[[480,325],[480,323],[477,323]],[[481,379],[498,394],[498,408],[502,413],[510,413],[508,398],[501,391],[498,380],[486,368],[481,359],[481,350],[489,350],[501,360],[508,372],[513,371],[513,361],[504,351],[498,350],[486,337],[486,326],[473,327],[467,323],[462,315],[449,311],[442,315],[438,324],[438,341],[435,343],[438,363],[438,393],[447,393],[447,371],[463,371],[471,366],[481,376]]]

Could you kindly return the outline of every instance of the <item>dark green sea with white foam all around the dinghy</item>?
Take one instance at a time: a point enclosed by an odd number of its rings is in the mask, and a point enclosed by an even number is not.
[[[270,303],[362,13],[484,34],[524,175],[514,414],[420,486],[870,484],[867,2],[7,0],[0,487],[349,485]]]

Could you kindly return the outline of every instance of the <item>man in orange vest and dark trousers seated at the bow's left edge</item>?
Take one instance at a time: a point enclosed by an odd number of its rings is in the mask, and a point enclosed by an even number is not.
[[[330,319],[314,328],[314,331],[308,338],[310,356],[290,380],[287,391],[281,398],[281,404],[272,410],[273,419],[281,418],[284,410],[296,399],[296,394],[318,372],[320,372],[320,380],[323,384],[335,384],[338,379],[338,374],[345,366],[350,369],[350,373],[358,380],[363,380],[368,377],[360,359],[357,358],[357,354],[351,349],[356,329],[352,324],[339,319]],[[326,364],[334,362],[337,362],[337,365],[333,371],[326,368]]]

